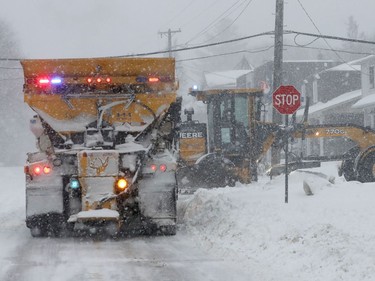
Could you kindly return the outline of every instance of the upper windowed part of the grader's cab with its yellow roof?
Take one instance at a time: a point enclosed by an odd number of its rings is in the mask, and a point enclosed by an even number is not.
[[[207,104],[208,152],[248,155],[254,121],[259,119],[258,89],[207,90],[191,92]]]

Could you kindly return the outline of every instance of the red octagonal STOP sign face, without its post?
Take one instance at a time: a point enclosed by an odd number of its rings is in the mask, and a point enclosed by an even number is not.
[[[272,103],[280,114],[293,114],[301,106],[301,94],[294,86],[280,86],[272,94]]]

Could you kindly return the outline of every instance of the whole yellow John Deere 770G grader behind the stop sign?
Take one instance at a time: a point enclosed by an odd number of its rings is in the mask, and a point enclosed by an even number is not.
[[[300,124],[285,127],[262,122],[260,89],[216,89],[189,94],[207,104],[207,130],[206,124],[193,121],[192,112],[186,112],[188,120],[181,124],[179,134],[177,179],[182,188],[194,190],[257,180],[258,163],[264,154],[271,147],[283,148],[291,137],[343,137],[357,145],[344,155],[301,157],[292,163],[290,170],[314,167],[320,161],[342,160],[340,176],[347,180],[375,181],[374,130],[352,124],[309,125],[308,105]]]

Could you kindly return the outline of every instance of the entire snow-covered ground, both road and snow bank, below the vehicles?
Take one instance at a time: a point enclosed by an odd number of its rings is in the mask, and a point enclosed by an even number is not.
[[[181,195],[175,237],[124,241],[31,238],[22,168],[0,176],[0,280],[375,280],[375,184],[335,163],[291,173],[288,204],[283,175]]]

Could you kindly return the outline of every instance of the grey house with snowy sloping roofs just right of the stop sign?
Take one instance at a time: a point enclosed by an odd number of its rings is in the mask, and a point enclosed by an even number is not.
[[[310,99],[310,124],[364,125],[363,111],[353,108],[362,96],[361,61],[355,60],[322,70],[304,79],[302,96]],[[297,117],[304,109],[297,111]],[[340,155],[355,144],[349,139],[308,139],[307,155]]]

